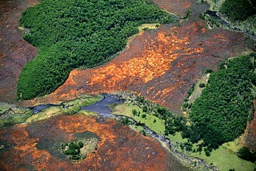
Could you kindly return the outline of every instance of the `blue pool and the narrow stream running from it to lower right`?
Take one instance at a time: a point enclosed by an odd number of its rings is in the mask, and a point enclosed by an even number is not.
[[[122,102],[124,101],[130,101],[130,98],[123,99],[123,97],[126,96],[121,97],[121,94],[122,93],[114,93],[114,96],[104,94],[104,97],[101,101],[98,101],[93,105],[86,105],[85,107],[82,107],[81,110],[98,113],[100,117],[112,117],[114,119],[117,119],[118,121],[122,121],[122,123],[126,125],[130,125],[131,128],[137,129],[138,132],[144,135],[157,139],[164,147],[170,150],[170,153],[174,155],[174,157],[177,157],[178,161],[181,162],[182,165],[185,165],[187,168],[190,168],[192,170],[217,170],[215,167],[206,164],[205,161],[198,157],[188,157],[184,153],[180,152],[178,149],[176,149],[176,145],[174,145],[169,137],[164,136],[163,134],[161,134],[161,132],[156,133],[154,130],[152,130],[156,127],[155,125],[148,126],[146,123],[143,123],[143,121],[138,121],[138,119],[130,117],[128,113],[132,112],[131,110],[129,111],[128,106],[126,106],[128,110],[126,110],[125,112],[120,113],[120,110],[113,112],[113,106],[122,105]],[[132,93],[127,94],[130,94],[129,96],[132,96]],[[142,111],[138,112],[140,113]],[[147,115],[147,119],[149,118],[149,116],[150,115]],[[143,129],[141,130],[137,126],[142,127]],[[162,133],[164,133],[164,131]]]

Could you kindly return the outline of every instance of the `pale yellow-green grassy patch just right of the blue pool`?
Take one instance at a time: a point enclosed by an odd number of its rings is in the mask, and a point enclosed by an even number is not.
[[[113,109],[112,113],[117,115],[123,115],[126,117],[132,117],[135,121],[144,123],[147,127],[149,127],[151,130],[154,130],[154,132],[158,134],[163,134],[165,132],[164,121],[160,120],[154,115],[143,113],[142,109],[140,109],[137,105],[120,104],[111,106],[111,108]],[[139,116],[134,116],[134,114],[132,113],[133,109],[135,109],[139,113]],[[146,114],[145,118],[142,118],[143,114]]]

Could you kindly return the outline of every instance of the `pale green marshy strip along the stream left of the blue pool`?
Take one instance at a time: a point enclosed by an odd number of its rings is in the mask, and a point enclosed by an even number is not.
[[[94,104],[102,98],[98,96],[82,95],[72,101],[63,101],[60,104],[44,105],[44,109],[38,111],[34,108],[23,108],[8,103],[0,103],[0,128],[18,123],[32,123],[41,121],[58,114],[74,114],[84,105]]]

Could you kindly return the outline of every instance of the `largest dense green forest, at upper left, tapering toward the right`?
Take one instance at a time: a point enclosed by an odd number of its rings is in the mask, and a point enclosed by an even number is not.
[[[70,70],[114,58],[142,23],[174,19],[148,0],[42,0],[20,19],[27,30],[23,38],[38,47],[38,56],[22,70],[18,97],[51,93]]]

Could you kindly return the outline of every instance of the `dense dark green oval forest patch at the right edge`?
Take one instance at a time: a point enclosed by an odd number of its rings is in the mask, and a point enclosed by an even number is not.
[[[190,126],[182,136],[192,143],[203,140],[207,149],[233,141],[253,117],[256,54],[230,58],[210,75],[202,95],[190,107]]]

